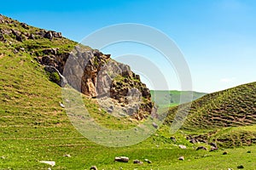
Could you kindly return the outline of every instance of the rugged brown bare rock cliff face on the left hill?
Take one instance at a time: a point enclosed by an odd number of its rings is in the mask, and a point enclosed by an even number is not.
[[[80,46],[71,54],[59,54],[58,48],[45,49],[43,53],[43,57],[38,57],[41,64],[54,66],[73,88],[99,99],[106,111],[123,112],[119,115],[133,116],[137,120],[153,111],[146,85],[129,65],[110,59],[109,54]]]

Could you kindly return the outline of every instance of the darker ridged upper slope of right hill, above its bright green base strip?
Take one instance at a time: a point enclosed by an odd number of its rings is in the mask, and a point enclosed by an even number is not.
[[[207,129],[255,124],[255,94],[256,82],[207,94],[192,103],[184,127]],[[170,111],[170,117],[176,110]]]

